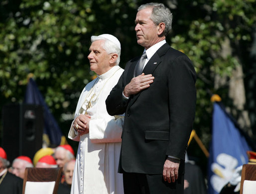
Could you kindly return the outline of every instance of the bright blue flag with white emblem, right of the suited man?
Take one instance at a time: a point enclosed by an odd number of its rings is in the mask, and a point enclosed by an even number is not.
[[[208,194],[219,194],[237,167],[248,163],[245,136],[221,103],[214,102],[212,142],[208,160]]]

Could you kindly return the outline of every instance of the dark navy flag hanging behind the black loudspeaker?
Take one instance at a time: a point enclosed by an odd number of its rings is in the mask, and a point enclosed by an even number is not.
[[[51,114],[42,94],[38,90],[37,85],[32,78],[29,79],[29,83],[27,84],[26,94],[23,103],[37,104],[43,107],[43,141],[46,142],[46,144],[51,144],[54,146],[60,145],[62,138],[65,137],[63,136],[58,123]]]

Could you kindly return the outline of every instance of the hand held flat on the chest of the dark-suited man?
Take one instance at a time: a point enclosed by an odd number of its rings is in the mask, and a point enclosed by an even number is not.
[[[130,95],[135,95],[142,90],[145,90],[153,83],[154,77],[151,74],[145,75],[142,73],[141,75],[132,78],[130,83],[126,85],[124,89],[124,95],[129,97]]]

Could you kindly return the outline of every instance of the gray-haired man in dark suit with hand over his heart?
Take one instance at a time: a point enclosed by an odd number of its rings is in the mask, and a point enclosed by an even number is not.
[[[165,41],[172,14],[162,3],[138,8],[137,43],[142,60],[130,60],[106,100],[110,115],[126,113],[119,172],[126,194],[183,194],[184,161],[196,104],[190,59]],[[143,60],[142,60],[143,61]],[[140,62],[138,62],[140,64]]]

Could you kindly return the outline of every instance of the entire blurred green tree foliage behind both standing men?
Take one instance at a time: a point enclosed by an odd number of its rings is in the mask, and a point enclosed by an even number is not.
[[[210,93],[225,99],[228,90],[227,86],[215,88],[215,77],[229,79],[237,65],[245,67],[248,63],[251,36],[256,27],[256,2],[159,2],[173,7],[173,30],[167,36],[167,42],[187,54],[195,65],[198,100],[194,128],[208,145],[212,114]],[[136,8],[142,3],[145,1],[1,2],[1,106],[23,100],[27,76],[32,73],[46,103],[67,133],[70,120],[64,117],[74,112],[80,91],[94,75],[87,59],[90,37],[102,33],[116,35],[122,44],[121,66],[124,67],[130,58],[143,50],[136,44],[134,33]],[[230,51],[223,47],[226,43],[231,46]]]

